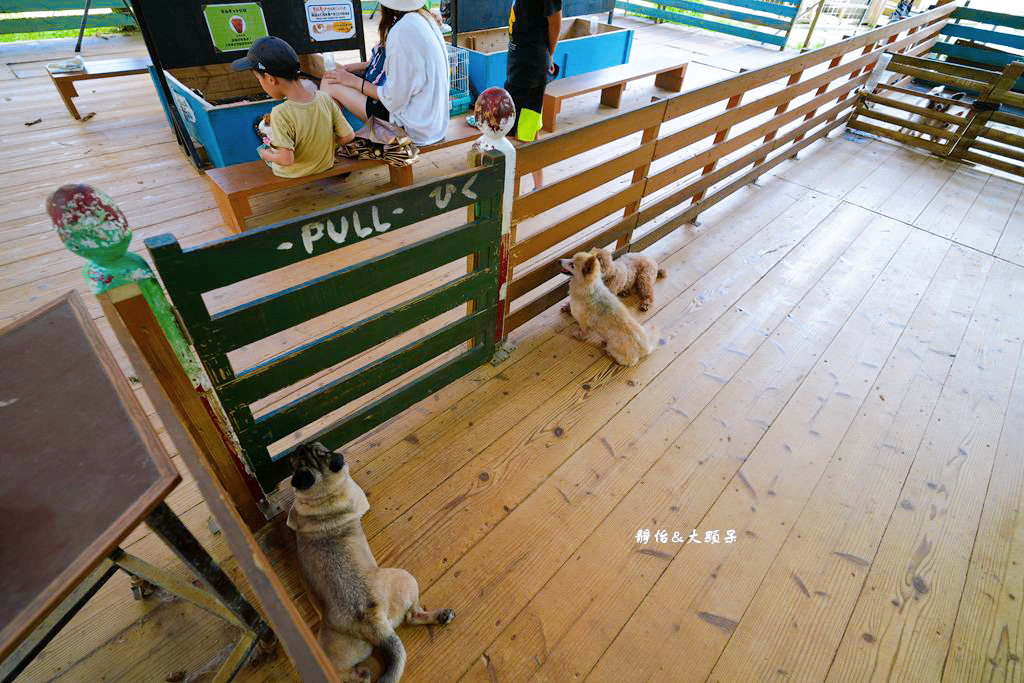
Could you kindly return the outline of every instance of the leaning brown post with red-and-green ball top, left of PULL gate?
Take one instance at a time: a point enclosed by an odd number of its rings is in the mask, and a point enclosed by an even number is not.
[[[58,188],[47,211],[65,247],[87,260],[84,274],[103,312],[137,340],[239,514],[250,528],[265,524],[259,484],[246,469],[199,356],[150,265],[128,253],[131,229],[124,214],[105,194],[81,184]]]

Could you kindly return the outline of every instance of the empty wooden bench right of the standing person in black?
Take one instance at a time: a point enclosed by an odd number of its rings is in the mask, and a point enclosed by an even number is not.
[[[601,103],[618,109],[626,84],[647,76],[655,77],[654,85],[657,87],[679,92],[683,88],[683,76],[688,65],[688,61],[672,58],[645,59],[549,83],[544,91],[544,130],[554,132],[555,117],[562,108],[562,100],[568,97],[600,90]]]

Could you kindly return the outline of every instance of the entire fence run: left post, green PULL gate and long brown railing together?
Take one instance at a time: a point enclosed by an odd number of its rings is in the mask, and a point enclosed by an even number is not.
[[[513,189],[505,164],[492,152],[483,167],[213,244],[182,249],[171,236],[148,240],[173,309],[137,257],[92,262],[93,289],[110,299],[104,311],[137,342],[221,484],[257,526],[272,513],[261,503],[287,476],[292,445],[313,438],[342,445],[486,361],[499,330],[507,334],[564,299],[559,258],[612,243],[620,253],[640,251],[694,221],[846,123],[852,95],[883,52],[926,53],[951,10],[524,145],[511,207],[502,199]],[[581,158],[582,170],[519,195],[522,176]],[[503,205],[511,233],[502,232]],[[455,227],[438,231],[428,222],[465,209],[469,220],[458,216]],[[102,227],[87,236],[89,245],[117,232]],[[418,241],[341,268],[332,260],[399,230],[411,236],[400,242]],[[86,242],[65,237],[91,256]],[[468,271],[452,275],[461,260]],[[438,272],[447,273],[440,286]],[[217,305],[240,297],[247,303]]]

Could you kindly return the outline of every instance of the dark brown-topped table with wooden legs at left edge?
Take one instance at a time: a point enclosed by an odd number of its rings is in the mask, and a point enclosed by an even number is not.
[[[180,476],[78,294],[0,331],[0,678],[13,680],[119,568],[136,597],[160,586],[242,628],[228,676],[267,639],[164,504]],[[118,548],[143,520],[207,590]]]

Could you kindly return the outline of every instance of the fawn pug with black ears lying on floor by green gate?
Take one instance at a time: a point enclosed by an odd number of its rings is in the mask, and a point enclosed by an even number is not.
[[[369,681],[358,667],[379,649],[377,680],[396,683],[406,648],[394,629],[449,624],[453,609],[424,611],[416,579],[404,569],[382,569],[359,521],[370,509],[366,494],[348,474],[340,453],[305,443],[291,456],[295,502],[288,526],[295,531],[299,566],[321,613],[321,646],[345,681]]]

